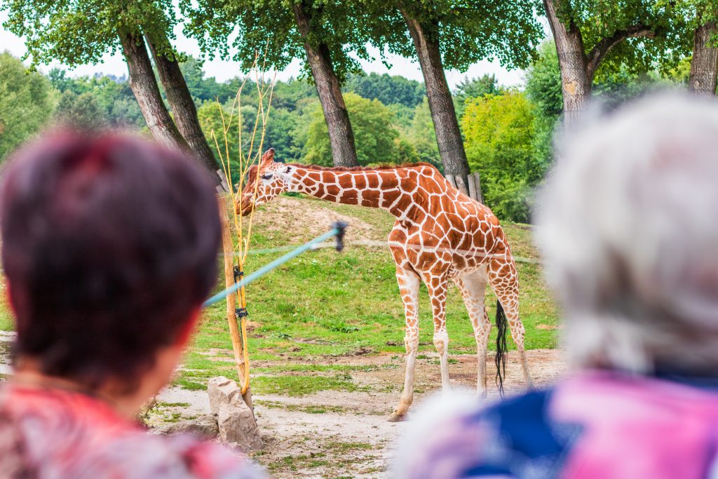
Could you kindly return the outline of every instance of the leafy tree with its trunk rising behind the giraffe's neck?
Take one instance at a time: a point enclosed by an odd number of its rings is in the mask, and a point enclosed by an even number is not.
[[[354,132],[340,86],[349,73],[359,73],[355,52],[368,59],[357,2],[342,0],[182,0],[190,17],[187,32],[205,52],[229,56],[229,38],[236,60],[251,68],[256,55],[266,66],[284,68],[294,58],[304,60],[322,103],[337,166],[356,166]],[[266,54],[266,57],[263,57]]]

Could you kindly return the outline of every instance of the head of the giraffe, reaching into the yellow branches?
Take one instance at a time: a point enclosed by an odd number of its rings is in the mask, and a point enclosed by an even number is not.
[[[291,165],[274,161],[274,148],[268,149],[247,172],[247,183],[237,200],[237,213],[248,215],[258,205],[269,203],[289,187]]]

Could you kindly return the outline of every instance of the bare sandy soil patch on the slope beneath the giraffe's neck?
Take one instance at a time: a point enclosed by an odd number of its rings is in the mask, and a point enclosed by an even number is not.
[[[325,208],[318,201],[302,201],[288,196],[279,196],[262,205],[261,214],[255,214],[252,221],[255,225],[264,226],[266,231],[281,233],[281,239],[287,243],[307,241],[326,233],[336,221],[350,226],[345,236],[347,241],[386,239],[378,237],[375,228],[365,221]]]

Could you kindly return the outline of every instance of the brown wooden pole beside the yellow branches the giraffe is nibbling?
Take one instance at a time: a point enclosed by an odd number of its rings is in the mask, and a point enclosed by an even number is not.
[[[220,209],[220,223],[222,224],[222,250],[224,252],[225,286],[230,287],[234,284],[234,243],[232,241],[232,230],[229,225],[227,202],[224,195],[220,195],[218,197],[218,203]],[[234,362],[237,366],[240,383],[242,383],[245,376],[245,364],[242,358],[242,338],[239,332],[239,325],[237,324],[236,307],[236,294],[228,294],[227,322],[229,323],[229,333],[232,338]],[[243,394],[243,399],[250,409],[252,409],[252,393],[250,389],[247,389],[246,393]]]

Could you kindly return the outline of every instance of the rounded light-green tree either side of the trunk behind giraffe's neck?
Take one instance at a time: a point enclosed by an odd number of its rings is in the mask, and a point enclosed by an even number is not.
[[[391,111],[378,100],[368,100],[355,93],[344,96],[354,130],[359,164],[401,162],[398,152],[399,132],[393,126]],[[327,123],[317,105],[309,125],[304,162],[331,166],[332,153]]]

